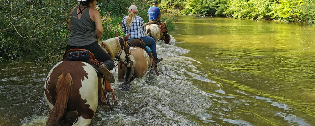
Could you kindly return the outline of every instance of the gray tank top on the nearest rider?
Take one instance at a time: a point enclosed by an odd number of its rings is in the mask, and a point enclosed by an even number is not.
[[[68,45],[80,47],[96,42],[96,33],[95,22],[90,18],[89,7],[80,19],[77,17],[77,9],[78,7],[71,14],[71,35]]]

